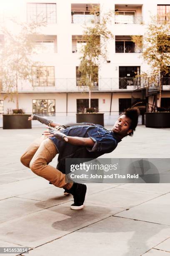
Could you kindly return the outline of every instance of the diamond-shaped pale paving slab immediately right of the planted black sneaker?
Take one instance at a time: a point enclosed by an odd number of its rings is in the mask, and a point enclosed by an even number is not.
[[[91,195],[88,197],[88,202],[98,205],[108,205],[110,207],[130,208],[135,205],[141,204],[155,197],[158,194],[139,192],[135,193],[126,189],[112,188],[106,191],[97,193],[97,195]]]

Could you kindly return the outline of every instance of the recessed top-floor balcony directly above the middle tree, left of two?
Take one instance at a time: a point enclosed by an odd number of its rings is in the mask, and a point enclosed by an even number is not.
[[[95,10],[95,11],[94,11]],[[71,20],[72,23],[99,23],[100,22],[100,5],[98,4],[72,4]]]

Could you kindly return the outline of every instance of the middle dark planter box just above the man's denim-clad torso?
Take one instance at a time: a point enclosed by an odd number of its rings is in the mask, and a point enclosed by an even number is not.
[[[104,126],[104,113],[76,114],[77,123],[95,123]]]

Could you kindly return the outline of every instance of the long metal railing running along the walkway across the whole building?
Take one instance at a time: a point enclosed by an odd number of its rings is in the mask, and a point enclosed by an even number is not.
[[[35,83],[34,83],[35,84]],[[88,91],[86,85],[79,85],[77,78],[57,78],[54,81],[54,86],[32,86],[31,83],[18,83],[18,92],[83,92]],[[163,78],[163,90],[170,90],[170,77]],[[119,90],[140,90],[148,87],[149,90],[159,90],[160,80],[153,81],[149,78],[134,78],[134,77],[120,77],[120,78],[98,78],[98,81],[92,83],[92,91],[119,91]],[[15,92],[15,90],[13,90]],[[5,86],[2,93],[7,92]]]

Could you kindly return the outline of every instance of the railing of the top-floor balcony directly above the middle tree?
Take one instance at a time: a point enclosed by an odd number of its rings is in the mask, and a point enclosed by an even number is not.
[[[99,23],[100,15],[92,15],[92,14],[73,14],[72,15],[72,23]]]

